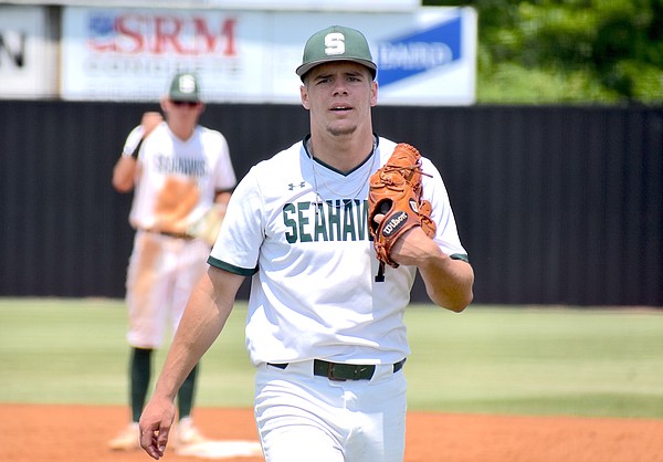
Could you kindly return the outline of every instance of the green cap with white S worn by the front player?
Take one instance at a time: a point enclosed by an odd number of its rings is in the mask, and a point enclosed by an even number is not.
[[[378,72],[364,34],[343,25],[332,25],[313,34],[306,41],[302,65],[295,72],[304,80],[304,74],[313,67],[329,61],[352,61],[362,64],[370,70],[373,78]]]

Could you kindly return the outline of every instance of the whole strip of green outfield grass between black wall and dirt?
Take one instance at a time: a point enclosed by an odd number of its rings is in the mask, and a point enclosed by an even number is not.
[[[252,406],[245,309],[203,358],[199,406]],[[406,322],[411,410],[663,418],[663,311],[413,305]],[[126,405],[125,335],[122,301],[0,298],[0,402]]]

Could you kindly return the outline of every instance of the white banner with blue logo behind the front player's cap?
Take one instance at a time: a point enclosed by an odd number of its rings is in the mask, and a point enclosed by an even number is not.
[[[388,105],[469,105],[475,101],[476,12],[420,8],[411,13],[275,14],[272,101],[297,102],[306,39],[333,23],[366,35],[378,64],[378,102]],[[275,28],[276,29],[276,28]]]

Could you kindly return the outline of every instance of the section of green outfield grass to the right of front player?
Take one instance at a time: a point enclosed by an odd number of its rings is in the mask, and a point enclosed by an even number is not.
[[[663,312],[415,308],[407,322],[411,408],[663,418]]]

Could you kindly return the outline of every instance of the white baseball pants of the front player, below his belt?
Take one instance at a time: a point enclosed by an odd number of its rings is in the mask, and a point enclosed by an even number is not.
[[[266,462],[402,462],[403,371],[378,365],[370,380],[313,375],[313,361],[255,376],[255,421]]]

